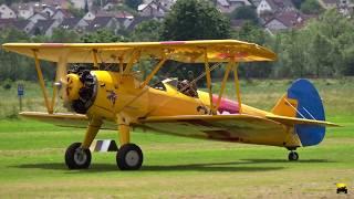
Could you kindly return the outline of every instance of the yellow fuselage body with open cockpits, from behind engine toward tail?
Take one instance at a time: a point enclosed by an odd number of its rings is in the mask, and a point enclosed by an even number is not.
[[[96,96],[88,113],[115,121],[123,112],[135,122],[148,116],[208,115],[210,101],[207,92],[197,91],[198,97],[185,95],[177,90],[176,80],[165,80],[155,86],[140,87],[142,82],[134,75],[115,72],[92,71],[96,77]],[[214,102],[218,100],[214,95]],[[242,104],[242,113],[266,116],[268,112]],[[237,102],[221,98],[218,114],[239,114]]]

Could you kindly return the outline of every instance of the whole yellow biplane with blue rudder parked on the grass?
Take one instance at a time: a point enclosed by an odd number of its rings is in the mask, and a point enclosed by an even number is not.
[[[139,169],[142,149],[131,142],[131,129],[232,143],[280,146],[298,160],[298,147],[322,142],[325,122],[322,101],[306,80],[295,81],[271,112],[241,103],[238,63],[274,61],[277,55],[260,45],[237,40],[168,41],[142,43],[7,43],[4,50],[34,59],[46,113],[23,112],[22,116],[60,126],[87,126],[82,143],[66,149],[70,169],[88,168],[92,145],[100,128],[118,132],[117,166]],[[134,65],[153,59],[156,66],[139,80]],[[50,100],[40,60],[56,63],[56,80]],[[204,63],[208,92],[196,90],[195,81],[166,78],[149,86],[166,61]],[[93,70],[71,70],[69,64],[93,64]],[[211,63],[221,63],[225,75],[218,95],[212,94]],[[100,70],[115,64],[117,70]],[[236,100],[222,97],[229,74],[233,73]],[[54,113],[58,93],[76,114]]]

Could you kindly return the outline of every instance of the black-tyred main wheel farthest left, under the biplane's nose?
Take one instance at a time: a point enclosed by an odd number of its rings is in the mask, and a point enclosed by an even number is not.
[[[81,143],[73,143],[65,151],[65,164],[69,169],[86,169],[91,164],[90,149],[81,148]]]

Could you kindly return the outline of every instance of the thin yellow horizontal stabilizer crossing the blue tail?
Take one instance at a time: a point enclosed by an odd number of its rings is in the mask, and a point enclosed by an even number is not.
[[[325,121],[287,117],[287,116],[279,116],[279,115],[267,115],[266,117],[285,125],[301,124],[301,125],[319,125],[319,126],[340,126],[337,124],[325,122]]]

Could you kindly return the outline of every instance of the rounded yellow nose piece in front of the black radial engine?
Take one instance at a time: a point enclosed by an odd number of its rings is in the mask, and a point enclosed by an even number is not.
[[[80,98],[79,92],[83,87],[83,83],[80,81],[77,74],[67,74],[66,75],[66,87],[65,94],[69,101],[75,101]]]

